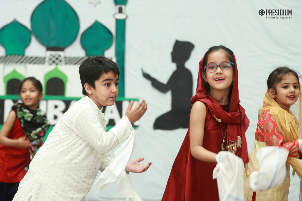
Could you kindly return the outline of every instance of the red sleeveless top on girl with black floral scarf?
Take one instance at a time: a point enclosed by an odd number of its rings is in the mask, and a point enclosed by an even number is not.
[[[25,133],[21,127],[18,117],[16,117],[14,126],[11,128],[7,137],[10,139],[18,139],[22,136],[25,136]],[[24,168],[30,162],[31,159],[28,148],[23,149],[0,144],[0,182],[20,182],[26,174],[26,170]]]

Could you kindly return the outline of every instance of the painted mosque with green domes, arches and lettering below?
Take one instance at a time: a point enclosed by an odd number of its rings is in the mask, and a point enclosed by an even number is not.
[[[113,106],[103,107],[107,127],[110,129],[120,120],[130,100],[138,99],[124,97],[124,47],[125,20],[124,13],[127,0],[114,0],[113,8],[116,19],[115,56],[114,60],[120,68],[119,96]],[[114,13],[115,10],[115,13]],[[11,110],[11,106],[20,101],[18,86],[26,77],[40,77],[43,85],[43,100],[40,108],[46,111],[52,130],[59,118],[77,100],[82,97],[67,97],[66,85],[79,65],[87,56],[104,55],[104,51],[111,47],[114,34],[98,21],[95,21],[83,33],[79,33],[79,17],[74,9],[64,0],[45,0],[41,2],[31,15],[31,27],[20,24],[17,20],[0,27],[0,44],[5,48],[5,55],[0,56],[3,72],[0,80],[4,82],[4,96],[0,96],[0,128]],[[31,30],[30,30],[31,29]],[[81,34],[81,45],[85,49],[86,57],[65,57],[64,49],[71,45],[78,34]],[[24,54],[31,38],[35,37],[46,47],[45,57],[27,56]],[[93,38],[94,40],[91,40]],[[27,71],[36,74],[27,74]],[[69,89],[74,90],[74,89]],[[82,89],[76,89],[82,91]],[[138,125],[136,122],[135,126]],[[47,135],[45,136],[46,139]],[[44,139],[44,140],[45,140]]]

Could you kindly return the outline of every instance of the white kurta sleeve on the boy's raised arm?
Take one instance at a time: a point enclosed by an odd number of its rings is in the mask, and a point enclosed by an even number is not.
[[[106,132],[98,112],[94,108],[85,108],[77,114],[72,129],[98,152],[106,154],[129,137],[129,123],[128,118],[124,116]]]

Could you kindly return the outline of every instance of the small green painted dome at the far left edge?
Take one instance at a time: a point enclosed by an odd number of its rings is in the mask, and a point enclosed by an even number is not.
[[[31,32],[16,20],[0,29],[0,44],[6,55],[24,55],[31,42]]]

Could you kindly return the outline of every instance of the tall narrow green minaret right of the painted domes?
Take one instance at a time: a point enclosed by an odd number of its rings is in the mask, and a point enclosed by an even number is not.
[[[116,19],[115,57],[117,66],[120,68],[120,85],[118,87],[119,97],[125,96],[125,27],[127,15],[124,13],[127,0],[114,0],[116,5],[114,18]]]

